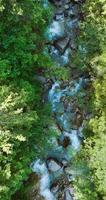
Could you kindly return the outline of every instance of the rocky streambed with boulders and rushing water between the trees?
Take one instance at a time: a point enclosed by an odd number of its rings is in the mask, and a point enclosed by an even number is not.
[[[58,67],[65,67],[77,50],[75,43],[79,35],[79,21],[83,19],[81,0],[50,0],[43,1],[44,6],[54,6],[54,17],[45,37],[47,49]],[[46,79],[36,77],[46,85]],[[83,140],[84,120],[87,111],[79,105],[80,100],[86,104],[86,88],[89,79],[85,76],[73,78],[69,82],[52,80],[48,91],[48,101],[56,126],[60,131],[55,140],[54,148],[47,152],[45,160],[36,160],[32,170],[39,177],[39,198],[45,200],[75,200],[73,180],[75,171],[70,170],[71,159],[80,150]],[[37,187],[38,187],[37,185]],[[37,190],[38,191],[38,190]],[[38,200],[37,194],[34,199]]]

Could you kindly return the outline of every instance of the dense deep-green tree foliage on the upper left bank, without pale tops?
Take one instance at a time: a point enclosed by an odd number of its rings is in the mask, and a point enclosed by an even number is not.
[[[45,59],[47,65],[43,48],[49,9],[32,0],[4,0],[0,7],[1,78],[28,76],[35,67],[42,67]]]

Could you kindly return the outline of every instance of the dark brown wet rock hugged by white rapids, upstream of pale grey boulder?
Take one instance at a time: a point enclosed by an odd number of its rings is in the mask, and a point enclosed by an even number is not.
[[[64,136],[61,134],[61,136],[58,138],[58,144],[66,148],[70,144],[70,139],[67,136]]]

